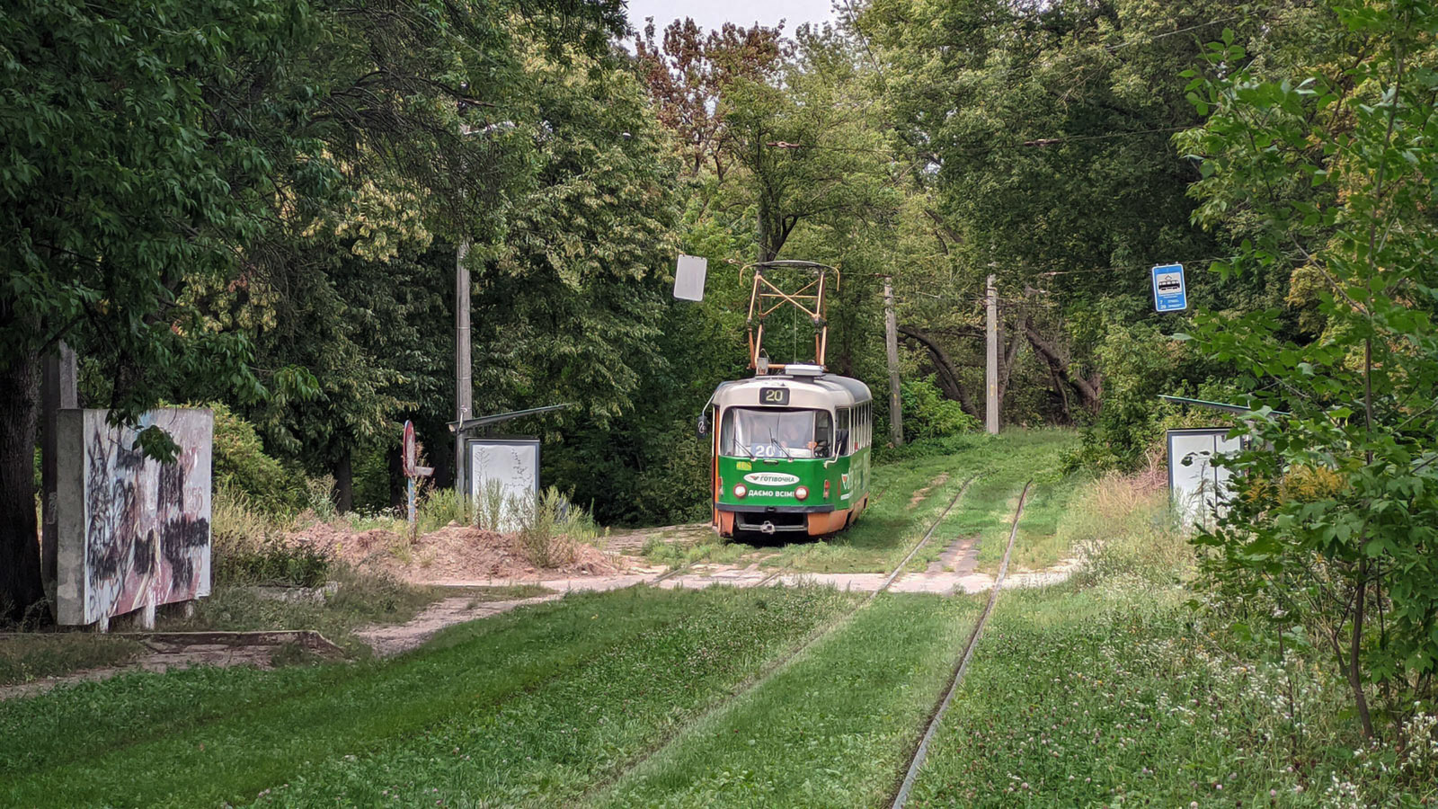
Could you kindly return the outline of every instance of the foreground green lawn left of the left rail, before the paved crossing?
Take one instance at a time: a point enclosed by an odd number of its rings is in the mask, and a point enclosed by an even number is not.
[[[414,803],[421,776],[423,790],[444,785],[470,802],[572,793],[853,599],[574,595],[452,628],[393,661],[128,675],[12,701],[0,705],[0,803],[213,805],[285,783],[266,796],[370,805],[407,789]],[[495,754],[510,760],[472,763]]]

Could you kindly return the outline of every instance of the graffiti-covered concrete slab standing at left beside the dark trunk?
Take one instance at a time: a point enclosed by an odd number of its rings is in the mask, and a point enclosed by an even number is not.
[[[56,613],[65,625],[210,595],[214,415],[167,407],[134,428],[105,416],[60,412]],[[180,446],[173,464],[135,446],[148,426]]]

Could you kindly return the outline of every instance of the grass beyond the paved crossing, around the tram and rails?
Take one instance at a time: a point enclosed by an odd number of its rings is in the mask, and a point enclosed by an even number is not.
[[[749,557],[765,567],[810,573],[887,571],[923,535],[963,481],[974,478],[963,500],[935,531],[933,541],[915,557],[912,569],[922,570],[949,543],[969,534],[982,537],[981,563],[997,567],[1018,492],[1034,478],[1043,484],[1043,491],[1035,492],[1030,508],[1037,507],[1038,514],[1047,510],[1048,521],[1032,523],[1035,533],[1020,546],[1022,550],[1015,548],[1015,564],[1044,567],[1067,553],[1061,541],[1040,538],[1051,538],[1055,517],[1073,491],[1071,482],[1058,478],[1057,468],[1060,453],[1076,440],[1076,433],[1068,430],[1011,430],[997,438],[968,435],[917,442],[899,452],[899,461],[874,466],[870,507],[848,531],[814,541],[778,538],[772,546],[718,538],[693,544],[654,541],[646,554],[667,564],[733,563]]]

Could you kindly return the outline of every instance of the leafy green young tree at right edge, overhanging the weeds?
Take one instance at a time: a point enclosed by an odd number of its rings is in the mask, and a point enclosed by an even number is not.
[[[1195,317],[1255,410],[1250,449],[1222,461],[1232,507],[1199,541],[1221,587],[1265,605],[1254,631],[1332,654],[1373,736],[1438,675],[1438,14],[1336,0],[1297,24],[1311,48],[1251,60],[1225,30],[1191,85],[1198,219],[1245,236],[1219,271],[1293,278],[1287,312]]]

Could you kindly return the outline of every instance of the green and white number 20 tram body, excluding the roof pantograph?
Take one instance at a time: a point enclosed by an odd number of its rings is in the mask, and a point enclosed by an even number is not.
[[[874,419],[864,383],[791,363],[720,383],[709,402],[719,535],[833,534],[869,505]]]

